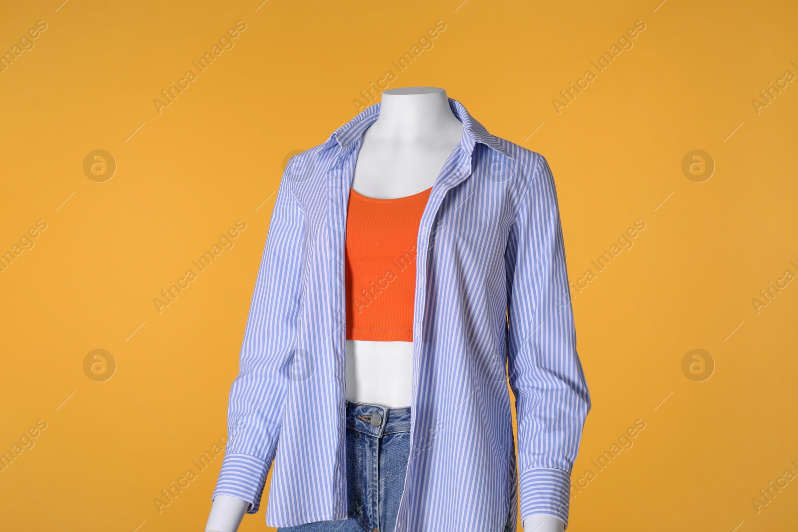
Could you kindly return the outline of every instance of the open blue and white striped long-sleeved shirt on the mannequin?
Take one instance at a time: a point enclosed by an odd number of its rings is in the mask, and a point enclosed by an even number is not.
[[[567,523],[571,467],[591,407],[576,352],[554,179],[449,98],[463,137],[421,217],[410,458],[397,532],[501,532]],[[373,104],[282,175],[232,384],[213,496],[269,526],[347,517],[346,203]],[[516,396],[518,460],[508,380]],[[520,499],[520,501],[519,501]]]

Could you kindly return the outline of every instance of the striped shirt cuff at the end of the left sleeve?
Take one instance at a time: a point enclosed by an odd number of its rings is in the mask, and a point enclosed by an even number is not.
[[[216,495],[232,495],[249,502],[247,514],[255,514],[260,507],[268,474],[269,463],[266,460],[252,455],[224,455],[211,500]]]

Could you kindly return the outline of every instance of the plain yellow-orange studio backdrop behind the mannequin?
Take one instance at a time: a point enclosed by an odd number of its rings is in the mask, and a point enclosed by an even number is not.
[[[447,89],[546,156],[571,281],[595,274],[574,293],[594,406],[569,530],[798,528],[795,479],[752,502],[798,474],[798,282],[752,302],[798,274],[796,82],[752,103],[798,74],[794,2],[61,2],[6,2],[0,18],[0,51],[46,24],[0,73],[0,252],[46,224],[0,273],[0,451],[46,424],[0,472],[2,530],[202,530],[221,456],[160,513],[153,499],[226,432],[287,157],[350,120],[439,20],[390,88]],[[235,46],[159,114],[153,100],[239,20]],[[97,149],[117,164],[104,182],[84,171]],[[715,165],[701,183],[681,169],[695,149]],[[638,219],[634,246],[597,272]],[[237,220],[235,245],[159,313],[160,290]],[[109,380],[85,370],[94,349],[117,365]],[[709,379],[683,372],[692,349]],[[635,420],[633,447],[599,471]],[[268,530],[263,512],[241,530]]]

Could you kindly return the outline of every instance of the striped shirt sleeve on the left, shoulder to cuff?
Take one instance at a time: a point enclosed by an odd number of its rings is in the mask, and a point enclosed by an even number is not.
[[[275,457],[301,301],[304,214],[291,191],[291,162],[282,175],[271,213],[263,259],[244,329],[239,375],[230,390],[227,447],[216,495],[260,506]]]

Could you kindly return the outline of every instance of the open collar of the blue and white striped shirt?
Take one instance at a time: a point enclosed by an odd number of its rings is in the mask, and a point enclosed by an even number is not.
[[[493,150],[496,150],[496,152],[503,153],[505,156],[508,156],[510,159],[512,159],[512,155],[510,155],[508,150],[501,145],[495,136],[492,136],[490,133],[488,133],[488,130],[485,129],[484,125],[477,122],[476,119],[471,116],[463,104],[454,98],[449,98],[448,102],[449,106],[452,108],[454,116],[456,116],[457,119],[463,123],[463,137],[460,140],[460,143],[463,145],[464,151],[469,157],[474,151],[475,144],[480,142],[488,146],[488,148],[492,148]],[[375,121],[377,121],[377,116],[379,115],[380,102],[369,105],[369,107],[359,112],[358,115],[352,120],[336,129],[333,134],[330,135],[330,141],[334,141],[346,148],[348,145],[354,143],[355,140],[358,140],[363,135],[365,130],[368,129],[369,126]]]

